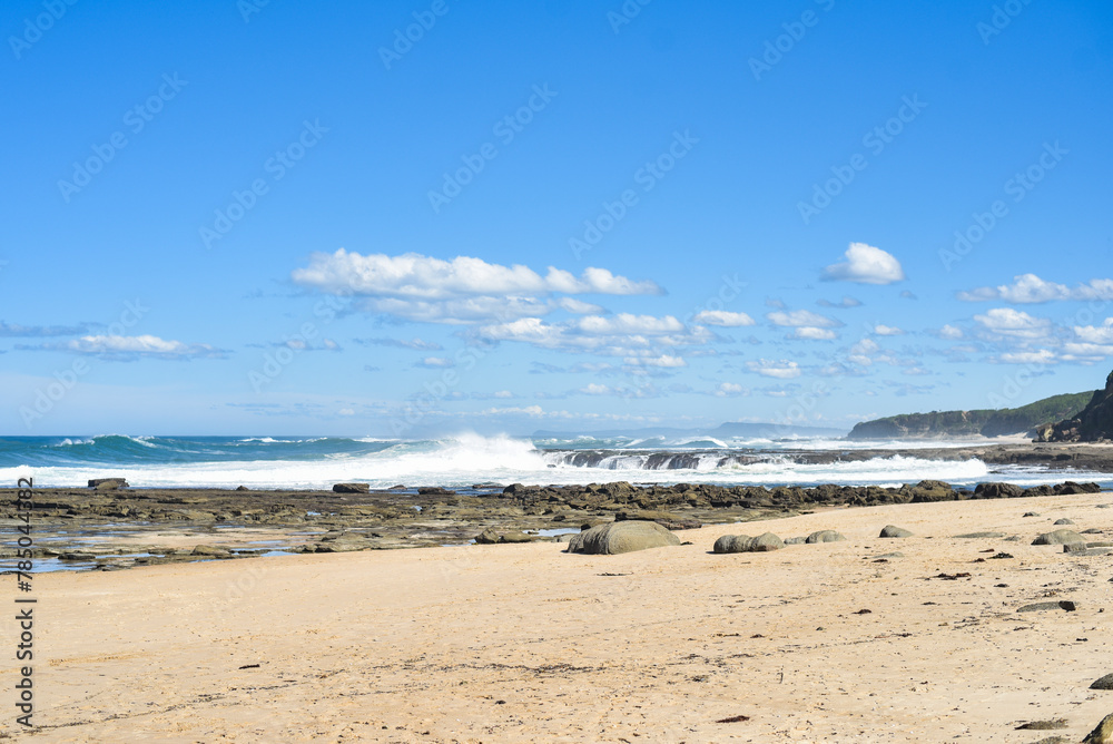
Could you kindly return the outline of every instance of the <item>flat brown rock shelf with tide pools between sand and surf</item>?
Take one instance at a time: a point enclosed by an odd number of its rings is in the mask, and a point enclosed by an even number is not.
[[[475,542],[569,539],[571,533],[611,522],[653,522],[668,530],[702,525],[755,521],[807,513],[826,506],[874,506],[962,499],[1090,493],[1094,483],[1065,482],[1021,489],[1009,483],[954,488],[925,480],[899,488],[824,484],[814,488],[629,482],[587,486],[505,488],[479,483],[464,489],[441,487],[371,489],[367,483],[336,483],[329,491],[257,491],[225,489],[131,488],[125,478],[89,481],[88,489],[36,489],[40,545],[55,557],[89,560],[117,556],[109,533],[127,529],[137,554],[135,565],[188,559],[190,551],[159,546],[155,535],[173,526],[177,535],[195,532],[197,545],[218,545],[216,530],[265,528],[278,536],[267,550],[338,552]],[[0,491],[12,502],[14,490]],[[641,528],[636,528],[641,529]],[[543,537],[545,530],[549,537]],[[152,533],[147,540],[141,532]],[[568,535],[555,537],[556,532]],[[791,544],[796,538],[789,538]],[[800,538],[807,540],[809,538]],[[180,545],[180,541],[176,542]],[[263,548],[225,546],[217,556],[258,555]],[[0,557],[10,557],[0,547]],[[148,555],[149,554],[149,555]],[[196,559],[196,558],[195,558]],[[104,561],[101,561],[104,562]]]

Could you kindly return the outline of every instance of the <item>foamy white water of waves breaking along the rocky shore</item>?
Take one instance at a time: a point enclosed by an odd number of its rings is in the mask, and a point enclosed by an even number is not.
[[[266,441],[269,438],[253,439]],[[827,447],[820,447],[820,443]],[[737,443],[735,444],[737,447]],[[812,444],[815,447],[811,447]],[[839,451],[851,449],[847,444],[848,442],[843,441],[801,440],[792,442],[791,447]],[[939,443],[933,446],[938,447]],[[873,447],[876,448],[877,443],[873,443]],[[679,448],[669,448],[668,451],[674,452],[677,449]],[[587,468],[559,464],[568,454],[568,450],[560,453],[545,452],[523,439],[465,433],[435,442],[397,442],[387,449],[371,453],[327,453],[303,460],[9,467],[0,468],[0,482],[14,483],[18,478],[33,477],[36,486],[39,487],[85,487],[91,478],[124,477],[137,488],[246,486],[255,489],[327,489],[333,483],[343,481],[363,481],[373,488],[388,488],[400,483],[407,487],[466,487],[480,482],[503,486],[513,482],[574,484],[615,480],[636,483],[802,486],[817,483],[899,486],[925,479],[944,480],[957,486],[969,486],[984,480],[1007,480],[1020,486],[1062,482],[1067,479],[1099,482],[1110,480],[1107,473],[1015,467],[991,469],[977,459],[928,460],[905,454],[824,464],[804,464],[795,462],[789,454],[772,454],[769,461],[718,467],[719,460],[731,453],[740,454],[743,450],[730,448],[703,453],[699,458],[698,467],[692,469],[647,470],[642,467],[646,461],[646,456],[642,453],[617,453],[602,461],[600,467]]]

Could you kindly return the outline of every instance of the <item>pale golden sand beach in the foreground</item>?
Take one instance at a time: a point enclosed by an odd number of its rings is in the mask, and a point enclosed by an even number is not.
[[[839,509],[692,530],[681,537],[695,545],[622,556],[494,545],[40,576],[42,728],[16,737],[1078,741],[1113,712],[1113,693],[1087,688],[1113,672],[1113,610],[1100,613],[1113,557],[1030,542],[1064,516],[1113,539],[1113,509],[1095,508],[1110,501]],[[1042,516],[1022,518],[1028,510]],[[917,537],[877,538],[887,523]],[[725,533],[825,528],[849,540],[709,554]],[[991,529],[1022,540],[951,537]],[[1015,558],[972,562],[989,548]],[[905,557],[864,559],[893,550]],[[973,578],[925,580],[940,571]],[[1078,610],[1015,611],[1052,593]],[[2,624],[4,648],[13,625]],[[260,666],[238,668],[249,664]],[[10,662],[3,675],[14,678]],[[11,732],[4,688],[0,726]],[[750,719],[715,723],[736,715]],[[1066,730],[1014,731],[1058,717]]]

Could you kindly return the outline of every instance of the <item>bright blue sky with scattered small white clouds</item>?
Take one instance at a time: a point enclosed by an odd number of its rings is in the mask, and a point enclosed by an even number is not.
[[[0,433],[1100,386],[1113,7],[749,4],[4,3]]]

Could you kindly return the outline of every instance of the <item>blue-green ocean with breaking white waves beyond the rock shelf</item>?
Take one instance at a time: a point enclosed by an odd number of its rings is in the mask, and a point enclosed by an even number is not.
[[[7,437],[0,438],[0,483],[14,487],[17,479],[33,477],[39,488],[85,487],[91,478],[125,477],[132,488],[328,489],[345,481],[364,481],[372,488],[452,488],[617,480],[662,484],[899,486],[935,479],[954,486],[986,480],[1020,486],[1086,480],[1113,488],[1111,473],[989,466],[975,458],[916,457],[917,449],[968,444],[830,438],[518,438],[474,433],[422,440]],[[866,459],[845,459],[847,453],[867,449],[883,451]],[[824,453],[834,457],[816,457]]]

